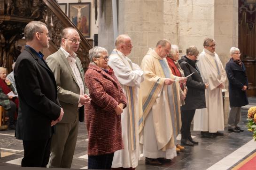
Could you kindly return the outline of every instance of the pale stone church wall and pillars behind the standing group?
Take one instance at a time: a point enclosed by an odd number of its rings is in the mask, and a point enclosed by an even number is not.
[[[107,15],[112,17],[112,12]],[[112,26],[109,19],[108,24]],[[107,21],[101,23],[106,24]],[[195,45],[202,52],[203,39],[212,37],[216,40],[216,52],[225,67],[230,48],[238,46],[238,1],[119,0],[118,29],[119,34],[128,34],[132,38],[133,48],[129,58],[139,65],[148,48],[154,48],[159,39],[169,39],[171,44],[179,46],[182,51],[180,55],[185,55],[190,45]],[[104,35],[99,39],[102,46],[103,42],[107,47],[113,46],[111,27],[100,30],[99,34]],[[106,33],[108,31],[110,33]],[[108,34],[111,36],[106,36]],[[109,52],[112,48],[108,48]],[[227,83],[225,89],[228,89]],[[228,112],[229,95],[226,93],[225,124]]]

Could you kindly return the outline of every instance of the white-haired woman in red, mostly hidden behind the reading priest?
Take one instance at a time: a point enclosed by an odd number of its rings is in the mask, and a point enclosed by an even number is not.
[[[169,54],[168,57],[166,57],[167,62],[169,67],[171,68],[171,72],[173,75],[179,76],[179,77],[185,77],[184,76],[184,72],[181,69],[181,67],[178,64],[178,59],[179,59],[179,52],[178,52],[178,46],[173,44],[171,45],[171,52]],[[173,84],[176,87],[176,84]],[[177,87],[176,87],[177,88]],[[180,95],[180,103],[181,105],[185,104],[184,99],[186,98],[186,92],[187,92],[187,88],[186,85],[184,83],[180,83],[180,90],[179,90],[179,95]],[[176,116],[176,124],[177,124],[177,132],[176,132],[176,137],[178,136],[178,133],[180,131],[181,128],[181,118],[180,118],[180,109],[177,112],[177,116]],[[179,144],[176,144],[176,151],[177,153],[179,153],[180,151],[183,151],[185,148],[183,146],[180,146]]]

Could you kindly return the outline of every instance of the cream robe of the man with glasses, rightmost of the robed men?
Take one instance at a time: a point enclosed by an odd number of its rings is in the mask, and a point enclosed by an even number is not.
[[[200,53],[196,66],[198,67],[203,82],[209,83],[205,90],[206,108],[198,109],[194,115],[194,131],[209,131],[216,133],[224,131],[224,111],[221,83],[225,86],[226,73],[216,52],[204,49]]]

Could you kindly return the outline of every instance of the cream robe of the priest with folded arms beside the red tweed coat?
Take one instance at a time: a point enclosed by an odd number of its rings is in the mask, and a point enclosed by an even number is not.
[[[140,83],[144,80],[143,71],[116,49],[111,52],[108,64],[113,68],[128,102],[121,114],[124,149],[115,152],[112,168],[135,168],[140,160],[139,115],[142,117]]]

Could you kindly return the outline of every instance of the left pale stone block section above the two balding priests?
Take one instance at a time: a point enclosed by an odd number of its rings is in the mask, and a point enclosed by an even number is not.
[[[118,33],[132,38],[133,62],[140,65],[158,40],[177,42],[177,2],[173,0],[119,0]]]

